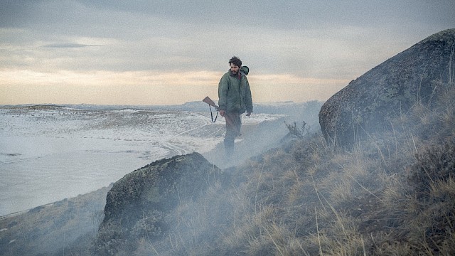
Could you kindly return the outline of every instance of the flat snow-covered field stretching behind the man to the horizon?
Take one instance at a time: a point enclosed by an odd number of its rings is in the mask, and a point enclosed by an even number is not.
[[[0,106],[0,216],[108,186],[152,161],[210,151],[224,125],[210,112]]]

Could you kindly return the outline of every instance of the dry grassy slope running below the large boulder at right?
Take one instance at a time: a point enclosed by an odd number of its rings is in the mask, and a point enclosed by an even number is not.
[[[441,88],[355,149],[306,134],[225,170],[136,255],[454,255],[455,90]]]

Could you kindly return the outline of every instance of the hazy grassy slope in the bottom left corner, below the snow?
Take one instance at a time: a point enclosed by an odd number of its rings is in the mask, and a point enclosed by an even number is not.
[[[0,255],[87,255],[110,187],[0,219]]]

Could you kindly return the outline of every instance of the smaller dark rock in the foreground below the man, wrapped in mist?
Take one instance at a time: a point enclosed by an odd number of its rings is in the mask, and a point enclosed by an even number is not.
[[[139,238],[162,238],[171,212],[196,201],[220,169],[198,153],[162,159],[127,174],[107,193],[105,218],[93,252],[115,255]]]

